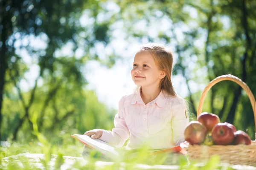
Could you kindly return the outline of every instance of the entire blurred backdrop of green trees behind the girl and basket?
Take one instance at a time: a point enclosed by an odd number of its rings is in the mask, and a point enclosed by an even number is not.
[[[160,42],[172,47],[177,58],[174,77],[186,83],[191,119],[195,119],[202,90],[220,75],[241,78],[256,94],[256,0],[0,3],[1,140],[30,139],[34,113],[39,130],[47,136],[111,129],[116,111],[87,90],[83,70],[90,60],[111,68],[123,57],[115,51],[118,44],[110,45],[117,28],[128,45]],[[117,12],[106,8],[107,4]],[[106,59],[99,57],[104,52],[97,50],[99,42],[113,48]],[[72,53],[63,53],[65,48]],[[31,76],[32,67],[38,74],[24,91],[20,86]],[[234,82],[215,85],[203,111],[218,114],[221,122],[248,129],[255,137],[252,106]]]

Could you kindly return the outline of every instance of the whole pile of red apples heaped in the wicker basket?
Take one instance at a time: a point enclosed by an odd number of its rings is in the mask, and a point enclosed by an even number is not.
[[[237,130],[230,123],[221,123],[220,118],[212,113],[201,113],[197,121],[191,121],[186,126],[184,137],[189,144],[228,145],[251,144],[250,136],[242,130]]]

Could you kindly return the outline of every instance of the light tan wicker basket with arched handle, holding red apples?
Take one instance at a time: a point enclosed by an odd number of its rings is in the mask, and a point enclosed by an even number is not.
[[[254,114],[254,122],[256,124],[256,102],[255,98],[250,91],[249,87],[238,77],[235,77],[231,74],[222,75],[211,82],[204,89],[203,94],[201,96],[199,106],[198,106],[198,114],[201,114],[202,106],[204,103],[205,96],[207,92],[218,82],[223,80],[230,80],[239,84],[246,94],[249,96],[251,105],[253,106],[253,114]],[[256,135],[256,134],[255,134]],[[219,155],[220,161],[230,164],[243,164],[243,165],[252,165],[256,166],[256,141],[252,141],[251,145],[192,145],[188,143],[183,143],[183,148],[187,151],[187,155],[189,160],[196,161],[207,161],[213,155]]]

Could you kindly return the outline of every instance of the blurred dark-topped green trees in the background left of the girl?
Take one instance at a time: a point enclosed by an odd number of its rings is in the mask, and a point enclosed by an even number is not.
[[[56,134],[69,127],[84,131],[110,116],[111,111],[100,107],[102,104],[88,95],[91,92],[84,90],[87,81],[81,72],[88,60],[99,60],[94,43],[108,43],[111,21],[94,22],[101,10],[97,1],[1,1],[0,139],[11,136],[15,140],[18,132],[30,138],[30,119],[35,112],[39,130]],[[91,20],[86,26],[80,23],[83,13]],[[64,46],[73,53],[61,54]],[[75,56],[81,49],[85,51],[81,57]],[[111,66],[114,60],[102,62]],[[31,77],[31,68],[38,75],[31,87],[22,91],[21,83]],[[87,125],[81,122],[82,114],[90,119],[85,121]]]

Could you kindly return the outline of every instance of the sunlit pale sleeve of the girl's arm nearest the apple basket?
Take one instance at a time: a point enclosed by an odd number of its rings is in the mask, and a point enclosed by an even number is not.
[[[173,131],[173,142],[175,146],[180,145],[184,142],[184,130],[188,125],[189,119],[186,116],[185,105],[180,103],[172,106],[172,131]]]

